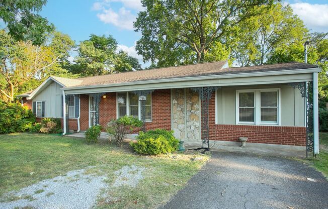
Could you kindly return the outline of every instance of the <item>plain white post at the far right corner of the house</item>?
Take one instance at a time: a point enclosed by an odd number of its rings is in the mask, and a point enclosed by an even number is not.
[[[313,73],[313,149],[319,153],[318,73]]]

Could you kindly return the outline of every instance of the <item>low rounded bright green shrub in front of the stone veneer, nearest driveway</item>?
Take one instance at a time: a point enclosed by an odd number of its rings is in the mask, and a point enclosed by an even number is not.
[[[157,155],[172,153],[179,149],[179,140],[173,136],[173,131],[156,129],[140,132],[138,142],[131,146],[137,153]]]

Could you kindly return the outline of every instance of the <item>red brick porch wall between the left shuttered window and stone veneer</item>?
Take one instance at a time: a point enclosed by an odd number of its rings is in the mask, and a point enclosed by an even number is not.
[[[146,129],[166,129],[171,130],[171,90],[155,90],[151,98],[152,122],[146,123]],[[89,96],[80,95],[80,128],[89,128]],[[106,98],[101,98],[99,109],[99,123],[106,127],[107,123],[116,119],[116,92],[106,93]],[[138,133],[135,129],[134,133]]]

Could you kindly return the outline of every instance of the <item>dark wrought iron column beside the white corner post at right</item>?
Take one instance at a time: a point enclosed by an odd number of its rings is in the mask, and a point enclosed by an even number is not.
[[[301,92],[301,96],[306,100],[305,107],[305,126],[306,126],[306,158],[309,152],[314,156],[314,144],[313,144],[313,94],[312,94],[312,82],[299,82],[290,83],[294,88],[298,88]]]

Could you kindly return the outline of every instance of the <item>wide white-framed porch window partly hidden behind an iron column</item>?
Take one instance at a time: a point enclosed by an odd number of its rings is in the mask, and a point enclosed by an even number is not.
[[[146,121],[151,121],[151,94],[146,98]],[[141,104],[137,94],[132,92],[117,93],[117,117],[125,115],[141,119]]]

